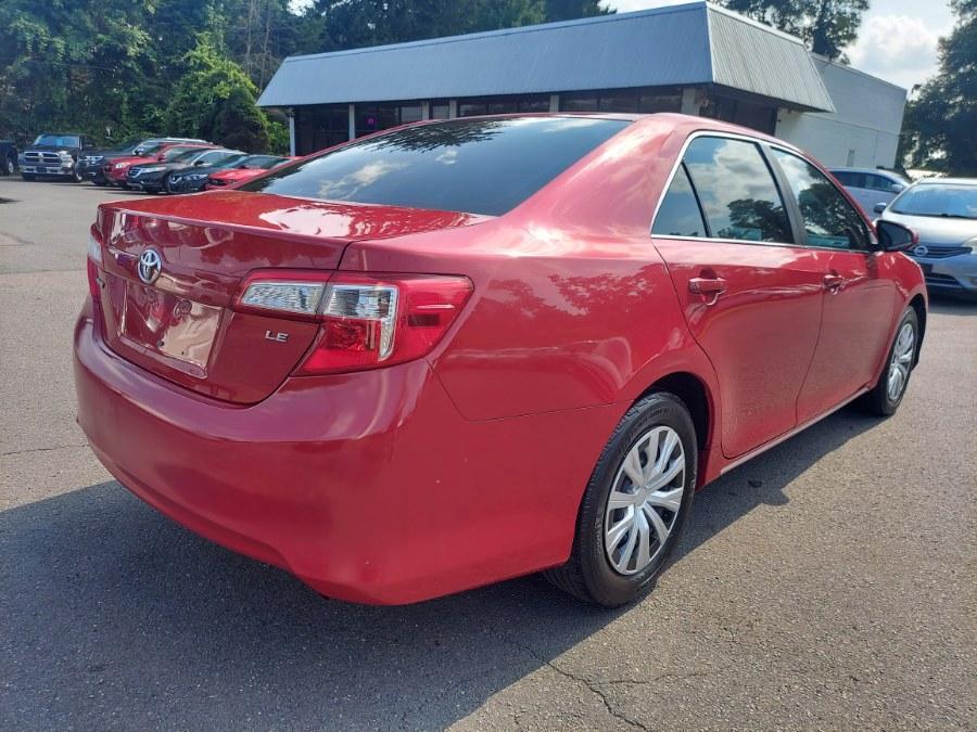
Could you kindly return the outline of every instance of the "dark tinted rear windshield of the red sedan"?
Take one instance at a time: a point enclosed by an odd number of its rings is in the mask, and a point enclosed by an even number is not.
[[[629,124],[508,117],[418,125],[284,166],[240,190],[498,216]]]

